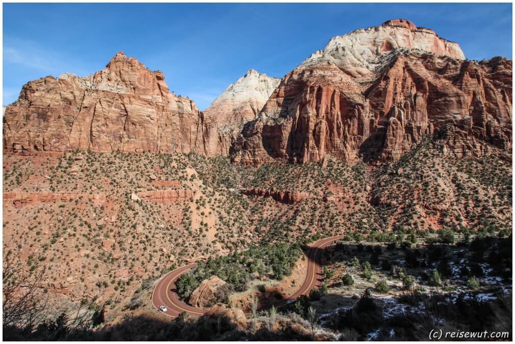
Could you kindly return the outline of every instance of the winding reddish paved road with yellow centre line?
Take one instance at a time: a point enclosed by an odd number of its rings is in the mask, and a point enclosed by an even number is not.
[[[286,304],[287,300],[295,300],[301,295],[309,295],[311,289],[320,285],[318,278],[322,274],[322,267],[319,264],[318,252],[321,248],[329,245],[333,241],[343,239],[344,236],[337,236],[331,238],[321,239],[311,243],[307,252],[307,273],[304,283],[300,286],[297,292],[284,298],[282,301],[274,303],[276,307]],[[185,265],[170,271],[162,277],[156,284],[152,292],[152,305],[158,309],[159,306],[164,305],[167,309],[166,314],[169,316],[177,317],[180,313],[186,312],[190,316],[202,316],[208,310],[197,307],[192,307],[187,303],[179,300],[178,295],[174,292],[176,286],[175,281],[185,273],[187,270],[197,267],[196,263]],[[247,314],[248,315],[248,314]]]

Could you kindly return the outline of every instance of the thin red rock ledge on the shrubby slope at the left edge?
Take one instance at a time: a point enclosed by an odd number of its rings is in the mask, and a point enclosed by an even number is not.
[[[70,200],[79,200],[87,202],[89,200],[96,204],[102,204],[106,202],[105,194],[94,194],[86,192],[22,192],[22,191],[11,191],[4,192],[4,202],[12,202],[15,207],[23,207],[26,205],[36,205],[38,203],[49,203],[49,202],[68,202]]]

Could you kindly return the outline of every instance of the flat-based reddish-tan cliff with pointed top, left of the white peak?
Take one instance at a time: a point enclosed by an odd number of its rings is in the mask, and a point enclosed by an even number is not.
[[[192,100],[169,92],[161,71],[118,52],[89,77],[27,83],[6,108],[4,151],[209,154],[210,130]]]

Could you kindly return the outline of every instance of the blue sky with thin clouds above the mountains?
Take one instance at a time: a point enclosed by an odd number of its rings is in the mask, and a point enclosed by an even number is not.
[[[404,18],[469,59],[512,58],[511,4],[3,4],[3,104],[29,80],[89,75],[124,51],[209,106],[249,68],[283,77],[330,38]]]

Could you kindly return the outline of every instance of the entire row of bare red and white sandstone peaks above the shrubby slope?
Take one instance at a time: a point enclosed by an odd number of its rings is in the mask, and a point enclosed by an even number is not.
[[[27,83],[5,110],[4,152],[374,163],[445,133],[442,150],[479,156],[511,148],[511,84],[512,61],[464,60],[457,43],[407,20],[335,37],[280,81],[250,69],[205,112],[120,52],[90,77]]]

